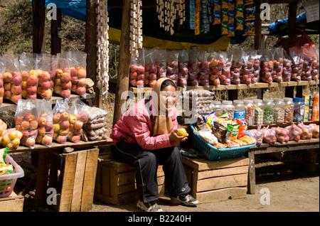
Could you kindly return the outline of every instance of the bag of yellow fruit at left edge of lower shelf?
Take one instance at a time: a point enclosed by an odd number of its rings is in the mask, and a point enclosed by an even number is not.
[[[10,150],[17,149],[20,145],[22,138],[21,131],[14,128],[4,130],[2,136],[0,136],[0,145]]]

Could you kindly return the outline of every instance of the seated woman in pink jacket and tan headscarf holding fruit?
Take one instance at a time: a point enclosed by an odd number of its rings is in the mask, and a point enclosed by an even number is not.
[[[159,199],[156,180],[158,164],[163,165],[171,203],[198,204],[198,200],[188,195],[191,188],[176,147],[187,137],[176,134],[175,104],[176,85],[169,78],[161,78],[154,85],[151,97],[130,107],[112,129],[112,156],[137,168],[137,207],[146,212],[162,211],[156,204]]]

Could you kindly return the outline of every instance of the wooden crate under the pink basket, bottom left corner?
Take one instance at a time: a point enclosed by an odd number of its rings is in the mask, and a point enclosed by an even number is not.
[[[0,212],[23,212],[23,195],[16,195],[14,191],[6,198],[0,198]]]

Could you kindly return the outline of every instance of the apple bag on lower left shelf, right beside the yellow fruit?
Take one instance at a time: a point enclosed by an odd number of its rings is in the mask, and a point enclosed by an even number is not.
[[[23,134],[21,144],[34,149],[38,135],[38,105],[36,99],[19,99],[16,106],[16,130]]]

